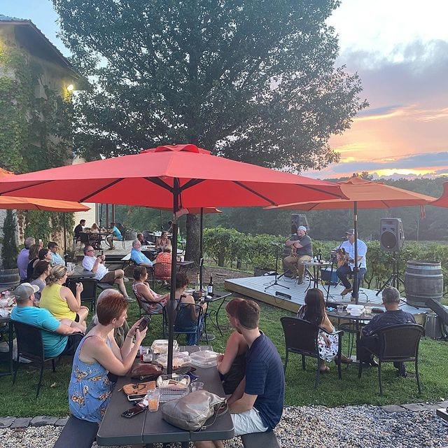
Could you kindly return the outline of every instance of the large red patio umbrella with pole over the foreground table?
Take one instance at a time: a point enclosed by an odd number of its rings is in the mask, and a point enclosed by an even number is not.
[[[77,202],[183,208],[265,207],[344,197],[335,183],[309,179],[211,155],[197,146],[159,146],[136,155],[45,169],[0,180],[0,194]],[[169,339],[174,330],[176,249],[172,251]],[[168,352],[172,368],[172,343]]]

